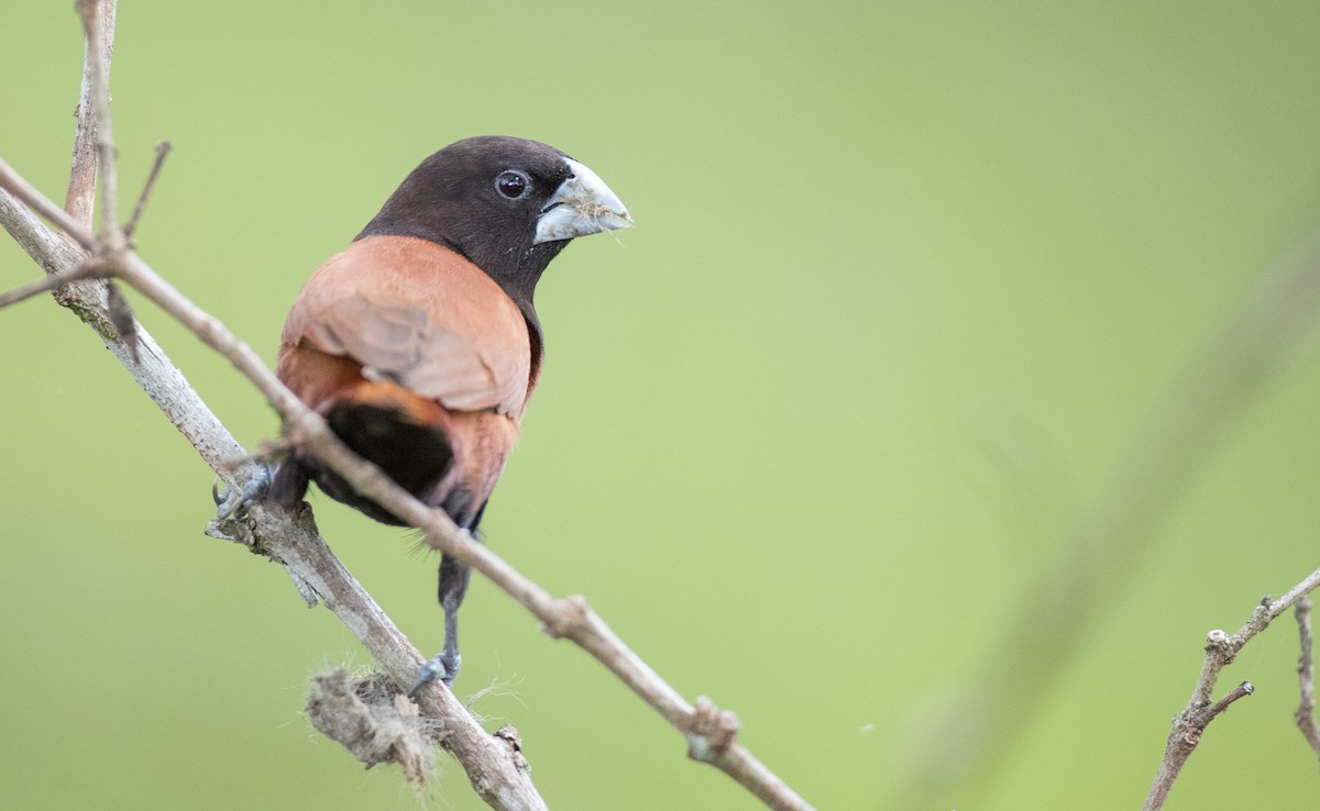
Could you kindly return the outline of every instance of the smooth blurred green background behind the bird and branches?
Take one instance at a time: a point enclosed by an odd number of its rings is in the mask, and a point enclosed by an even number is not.
[[[0,12],[0,156],[62,196],[71,0]],[[541,286],[549,356],[487,539],[582,592],[821,808],[880,808],[1155,404],[1320,220],[1320,5],[123,3],[125,193],[174,144],[143,256],[268,361],[306,276],[424,156],[510,133],[638,228]],[[127,203],[125,203],[127,208]],[[0,240],[0,285],[37,277]],[[249,447],[272,411],[139,315]],[[90,330],[0,314],[0,804],[418,802],[301,716],[367,657],[282,571],[205,538],[210,471]],[[1210,628],[1316,566],[1317,353],[1271,378],[1082,626],[989,779],[936,807],[1133,808]],[[436,560],[323,497],[424,650]],[[556,808],[754,808],[598,665],[477,582],[458,692]],[[1168,808],[1315,807],[1295,630],[1225,674]],[[986,700],[994,702],[995,696]],[[970,735],[970,733],[969,733]],[[932,744],[932,741],[935,741]]]

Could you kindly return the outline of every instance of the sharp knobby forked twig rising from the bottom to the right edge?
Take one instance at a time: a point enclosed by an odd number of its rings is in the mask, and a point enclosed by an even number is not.
[[[1173,787],[1173,781],[1177,779],[1187,758],[1192,756],[1197,744],[1201,742],[1201,735],[1209,723],[1222,715],[1233,702],[1251,695],[1254,690],[1251,683],[1242,682],[1218,702],[1212,702],[1210,696],[1214,694],[1214,682],[1218,680],[1220,671],[1232,665],[1242,647],[1253,637],[1269,628],[1275,617],[1288,611],[1295,603],[1300,605],[1300,601],[1304,601],[1305,596],[1317,586],[1320,586],[1320,570],[1307,575],[1305,580],[1294,586],[1279,600],[1270,601],[1269,597],[1262,600],[1247,624],[1239,628],[1236,634],[1229,636],[1222,630],[1212,630],[1208,634],[1205,662],[1201,665],[1201,678],[1196,682],[1196,688],[1192,691],[1192,700],[1187,703],[1187,708],[1173,719],[1173,731],[1170,732],[1168,744],[1164,748],[1164,761],[1155,775],[1155,782],[1151,783],[1151,790],[1146,795],[1142,811],[1159,811],[1164,807],[1164,800]]]

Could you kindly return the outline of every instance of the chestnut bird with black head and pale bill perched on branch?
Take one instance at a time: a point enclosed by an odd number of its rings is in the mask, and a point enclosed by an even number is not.
[[[350,448],[477,538],[541,375],[536,285],[573,239],[631,225],[599,175],[553,146],[510,136],[450,144],[308,280],[276,375]],[[265,496],[297,505],[310,483],[404,524],[298,450],[269,471]],[[469,578],[441,555],[444,647],[409,696],[437,679],[453,688]]]

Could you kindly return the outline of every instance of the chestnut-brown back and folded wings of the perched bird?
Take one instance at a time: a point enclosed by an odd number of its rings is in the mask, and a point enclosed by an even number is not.
[[[289,313],[282,343],[343,356],[447,409],[521,417],[531,338],[517,305],[457,253],[366,237],[330,258]]]

